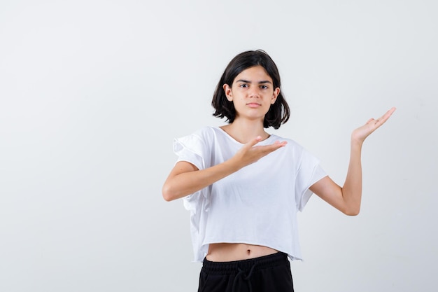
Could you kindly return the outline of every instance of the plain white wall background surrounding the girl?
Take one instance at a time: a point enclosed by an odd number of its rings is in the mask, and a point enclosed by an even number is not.
[[[296,291],[433,291],[436,1],[0,3],[0,291],[196,291],[189,213],[164,202],[171,143],[213,118],[237,53],[280,70],[295,139],[343,183],[365,142],[362,211],[299,214]]]

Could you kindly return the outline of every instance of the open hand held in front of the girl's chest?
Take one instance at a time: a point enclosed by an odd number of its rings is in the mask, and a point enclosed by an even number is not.
[[[262,137],[256,137],[255,139],[244,144],[242,148],[236,152],[232,160],[234,160],[234,163],[239,165],[239,168],[246,167],[247,165],[256,162],[269,153],[276,151],[278,148],[284,147],[286,144],[288,144],[286,141],[276,141],[274,144],[255,146],[255,144],[261,140]]]

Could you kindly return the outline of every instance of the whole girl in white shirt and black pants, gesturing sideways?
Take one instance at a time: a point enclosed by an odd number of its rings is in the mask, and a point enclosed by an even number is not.
[[[195,261],[203,262],[198,291],[293,291],[288,258],[302,257],[297,211],[315,193],[344,214],[359,213],[362,144],[395,108],[353,131],[341,187],[302,146],[265,132],[290,110],[264,51],[229,62],[212,105],[228,124],[175,139],[178,161],[163,186],[164,200],[183,197],[190,210]]]

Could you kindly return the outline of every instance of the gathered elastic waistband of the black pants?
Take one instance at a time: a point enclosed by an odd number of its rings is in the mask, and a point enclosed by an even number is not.
[[[249,258],[248,260],[234,260],[231,262],[212,262],[204,258],[202,270],[209,274],[236,274],[241,270],[261,270],[277,265],[289,265],[288,254],[279,251],[268,256]]]

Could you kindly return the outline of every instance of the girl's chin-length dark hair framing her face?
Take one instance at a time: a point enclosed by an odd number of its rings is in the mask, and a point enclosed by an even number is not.
[[[236,109],[234,109],[234,104],[229,102],[225,96],[223,85],[228,84],[231,87],[234,78],[236,78],[241,71],[254,66],[262,66],[269,77],[272,78],[274,89],[281,89],[280,74],[278,73],[277,66],[264,50],[248,50],[240,53],[229,62],[216,86],[213,100],[211,101],[211,105],[215,109],[213,116],[227,118],[228,123],[233,123],[234,118],[236,118]],[[278,129],[281,124],[289,120],[289,116],[289,105],[280,90],[276,102],[271,104],[269,111],[264,116],[263,127],[274,127],[274,129]]]

